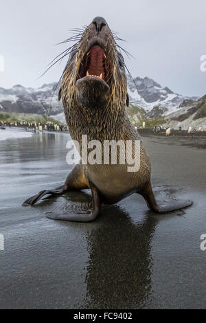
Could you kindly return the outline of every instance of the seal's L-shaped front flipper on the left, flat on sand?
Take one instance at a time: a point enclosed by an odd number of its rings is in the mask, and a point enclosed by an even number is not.
[[[52,220],[60,220],[60,221],[72,221],[72,222],[92,222],[94,221],[98,215],[100,214],[100,195],[98,189],[93,185],[93,183],[89,183],[91,192],[92,192],[92,208],[93,211],[91,213],[88,212],[80,212],[76,214],[56,214],[53,212],[48,212],[47,218]]]

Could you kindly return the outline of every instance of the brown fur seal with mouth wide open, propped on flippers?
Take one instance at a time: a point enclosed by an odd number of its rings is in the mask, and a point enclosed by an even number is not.
[[[82,135],[88,140],[104,142],[141,141],[139,133],[128,120],[124,58],[105,19],[96,17],[84,30],[73,48],[65,71],[59,99],[62,99],[65,117],[72,140],[80,143]],[[100,214],[101,203],[115,204],[130,194],[138,193],[146,200],[148,208],[157,213],[171,212],[192,205],[192,201],[176,201],[158,205],[150,183],[150,159],[141,142],[140,166],[137,172],[128,172],[127,165],[78,164],[65,183],[54,190],[43,190],[27,199],[34,205],[40,199],[56,197],[71,190],[90,188],[93,197],[91,214],[51,214],[49,219],[90,222]],[[47,199],[46,198],[46,199]]]

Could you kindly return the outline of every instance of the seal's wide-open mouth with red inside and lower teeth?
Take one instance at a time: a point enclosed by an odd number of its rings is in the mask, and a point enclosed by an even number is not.
[[[80,65],[80,78],[98,78],[108,85],[108,71],[108,63],[104,50],[99,45],[92,46],[84,55]]]

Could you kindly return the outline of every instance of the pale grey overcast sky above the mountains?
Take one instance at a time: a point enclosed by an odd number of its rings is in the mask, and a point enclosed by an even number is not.
[[[35,81],[66,45],[75,27],[104,16],[135,56],[126,58],[133,77],[148,76],[184,96],[206,93],[205,0],[0,0],[0,87],[40,87],[60,77],[66,61]],[[35,82],[34,82],[35,81]]]

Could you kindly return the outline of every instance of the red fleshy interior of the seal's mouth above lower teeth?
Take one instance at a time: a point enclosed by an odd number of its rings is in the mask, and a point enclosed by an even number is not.
[[[87,73],[93,76],[102,76],[104,79],[104,52],[102,48],[98,45],[95,45],[91,48],[90,51],[90,64]]]

